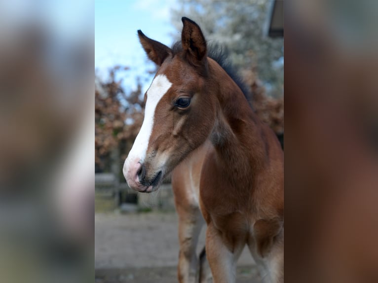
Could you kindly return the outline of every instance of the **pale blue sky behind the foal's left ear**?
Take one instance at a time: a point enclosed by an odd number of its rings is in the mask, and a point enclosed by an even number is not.
[[[123,86],[134,89],[136,77],[141,76],[146,88],[151,80],[147,71],[154,65],[139,43],[137,30],[170,46],[176,33],[170,24],[170,10],[177,5],[177,0],[95,0],[97,74],[106,78],[112,66],[127,66],[130,70],[121,74]]]

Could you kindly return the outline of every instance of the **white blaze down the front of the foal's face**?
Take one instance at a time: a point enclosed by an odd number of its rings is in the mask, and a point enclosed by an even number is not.
[[[125,160],[124,170],[126,163],[137,159],[140,159],[141,161],[145,159],[152,132],[153,117],[155,116],[156,106],[164,94],[167,93],[171,85],[172,83],[163,74],[159,74],[153,79],[150,88],[147,90],[147,102],[142,128],[134,141],[127,159]]]

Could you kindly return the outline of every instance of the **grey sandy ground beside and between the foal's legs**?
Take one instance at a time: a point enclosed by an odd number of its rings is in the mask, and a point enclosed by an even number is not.
[[[177,215],[174,211],[95,214],[96,283],[177,283]],[[197,252],[204,246],[204,229]],[[261,283],[245,249],[237,283]]]

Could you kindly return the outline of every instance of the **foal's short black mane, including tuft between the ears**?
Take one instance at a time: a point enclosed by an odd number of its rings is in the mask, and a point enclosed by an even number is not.
[[[181,41],[177,41],[172,46],[173,56],[180,54],[183,51]],[[245,85],[240,76],[237,75],[235,68],[230,64],[228,60],[227,51],[219,44],[208,44],[207,45],[207,56],[213,59],[227,72],[230,78],[236,83],[236,85],[241,89],[248,103],[251,102],[251,92],[249,88]]]

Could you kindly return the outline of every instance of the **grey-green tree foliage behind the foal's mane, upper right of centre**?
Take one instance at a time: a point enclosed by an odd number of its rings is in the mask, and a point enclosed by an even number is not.
[[[264,34],[269,16],[267,0],[183,1],[172,10],[172,24],[181,31],[181,17],[197,22],[209,43],[226,47],[229,59],[237,70],[256,72],[269,94],[283,94],[283,38],[270,38]],[[177,34],[179,35],[179,33]],[[176,38],[179,39],[179,38]]]

